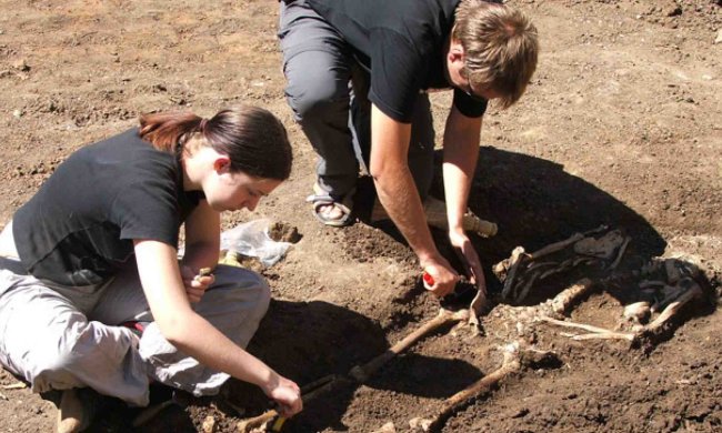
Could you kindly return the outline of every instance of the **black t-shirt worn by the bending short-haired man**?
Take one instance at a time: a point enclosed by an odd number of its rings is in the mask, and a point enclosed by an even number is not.
[[[308,0],[353,48],[371,73],[369,100],[409,123],[420,90],[451,87],[444,47],[460,0]],[[454,89],[453,104],[478,118],[487,102]]]

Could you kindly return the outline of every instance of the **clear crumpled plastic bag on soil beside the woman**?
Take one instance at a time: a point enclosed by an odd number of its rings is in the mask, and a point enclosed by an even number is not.
[[[264,266],[271,266],[283,258],[291,243],[277,242],[269,235],[267,219],[244,222],[221,233],[221,250],[258,258]]]

